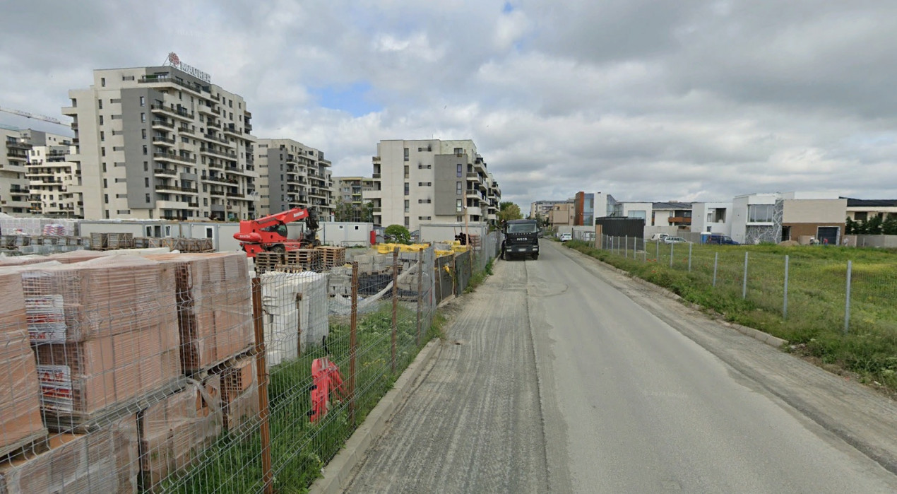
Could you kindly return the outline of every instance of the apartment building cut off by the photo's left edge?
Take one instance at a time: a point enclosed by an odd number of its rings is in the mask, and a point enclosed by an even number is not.
[[[22,130],[0,127],[0,213],[13,216],[30,213],[30,192],[25,177],[30,148]]]

